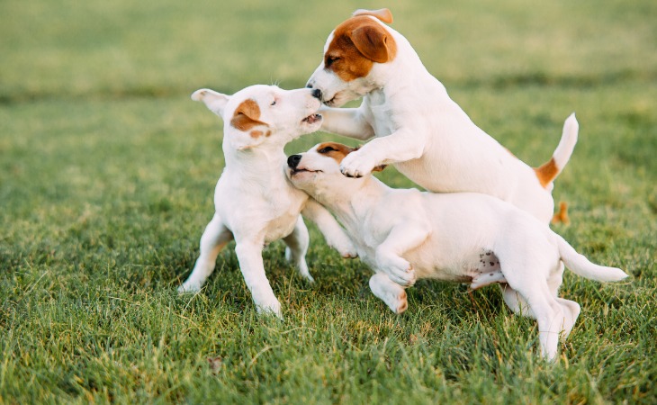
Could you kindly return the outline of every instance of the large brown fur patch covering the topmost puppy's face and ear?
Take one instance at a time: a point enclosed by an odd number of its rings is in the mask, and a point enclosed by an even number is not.
[[[397,43],[379,23],[365,15],[338,25],[324,55],[324,67],[349,82],[370,73],[374,62],[391,61]]]

